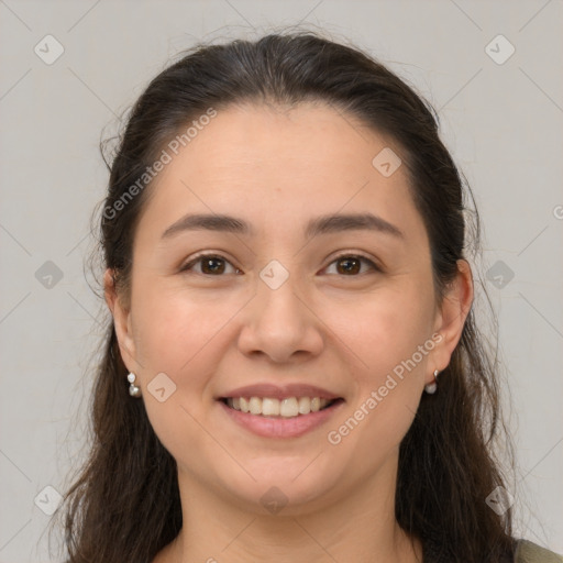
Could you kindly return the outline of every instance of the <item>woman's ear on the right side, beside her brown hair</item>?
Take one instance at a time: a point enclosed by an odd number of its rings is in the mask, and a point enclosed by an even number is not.
[[[434,366],[432,366],[432,373],[434,369],[441,372],[450,364],[452,353],[462,336],[463,327],[473,303],[473,295],[471,266],[467,261],[459,260],[457,274],[448,285],[437,314],[434,332],[440,333],[442,340],[433,351],[432,361]],[[429,374],[426,383],[432,383],[433,380],[433,375]]]

